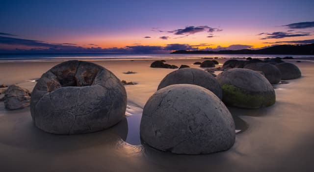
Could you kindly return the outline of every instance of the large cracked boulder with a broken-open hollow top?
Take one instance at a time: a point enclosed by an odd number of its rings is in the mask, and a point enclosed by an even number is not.
[[[49,133],[106,129],[125,117],[127,93],[109,70],[86,61],[62,62],[38,80],[30,99],[34,124]]]

